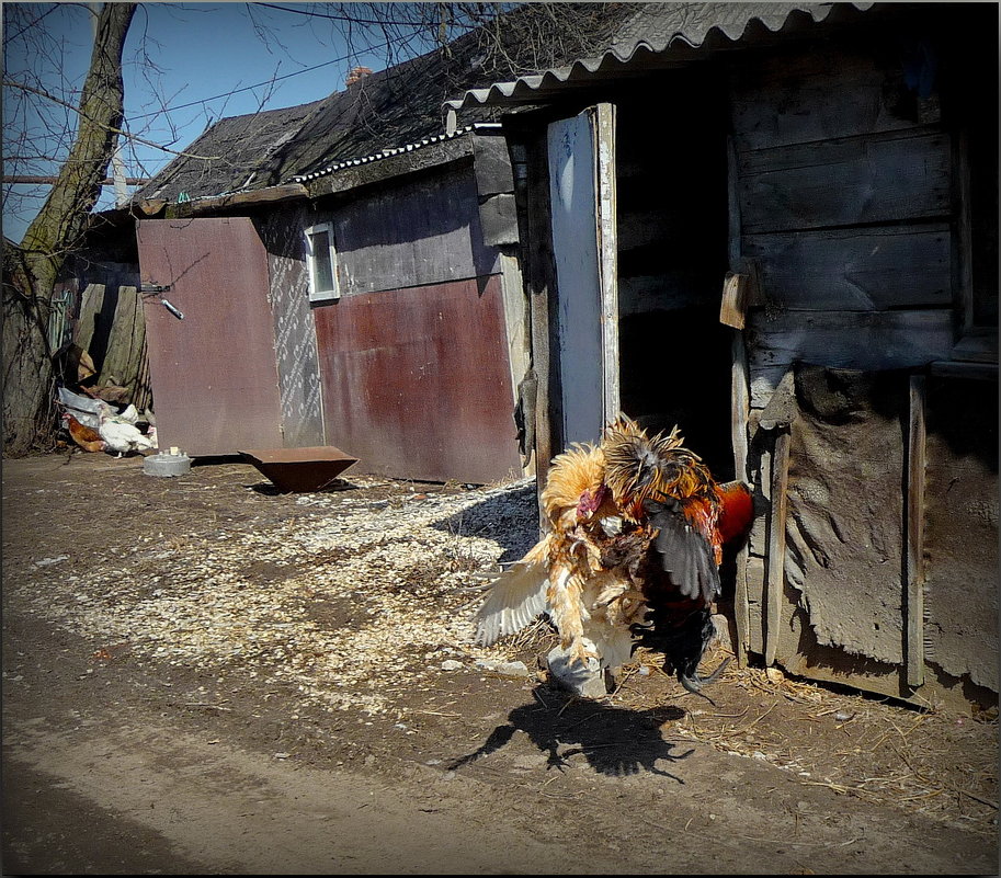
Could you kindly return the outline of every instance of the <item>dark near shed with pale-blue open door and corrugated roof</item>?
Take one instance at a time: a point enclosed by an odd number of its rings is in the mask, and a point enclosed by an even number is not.
[[[541,476],[621,409],[754,486],[741,661],[997,704],[997,75],[994,4],[649,3],[448,104],[508,111]]]

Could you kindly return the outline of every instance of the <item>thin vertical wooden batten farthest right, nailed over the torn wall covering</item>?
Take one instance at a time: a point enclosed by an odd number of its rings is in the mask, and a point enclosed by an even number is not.
[[[924,376],[912,375],[907,453],[905,566],[907,685],[924,683]]]

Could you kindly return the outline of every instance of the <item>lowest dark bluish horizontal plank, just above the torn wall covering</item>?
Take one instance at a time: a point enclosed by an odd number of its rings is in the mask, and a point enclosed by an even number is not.
[[[749,315],[753,369],[796,361],[831,368],[892,369],[946,360],[953,315],[926,311],[783,311]],[[774,373],[771,373],[774,374]]]

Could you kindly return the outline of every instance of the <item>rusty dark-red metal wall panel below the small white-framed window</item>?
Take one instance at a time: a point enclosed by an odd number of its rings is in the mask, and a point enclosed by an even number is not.
[[[398,478],[521,475],[499,275],[315,310],[328,442]]]

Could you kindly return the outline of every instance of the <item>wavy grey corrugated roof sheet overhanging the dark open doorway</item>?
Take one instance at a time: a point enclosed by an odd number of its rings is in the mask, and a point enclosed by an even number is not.
[[[666,66],[774,35],[800,34],[820,22],[841,22],[876,5],[846,3],[648,3],[629,15],[608,48],[567,67],[470,89],[446,102],[454,110],[539,103],[596,77]]]

